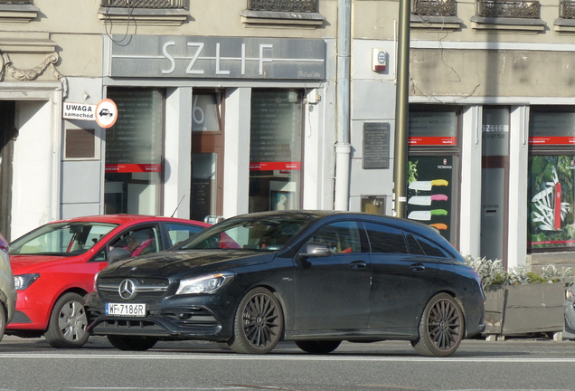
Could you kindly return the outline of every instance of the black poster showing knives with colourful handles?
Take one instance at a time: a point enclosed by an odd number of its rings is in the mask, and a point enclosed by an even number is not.
[[[451,234],[453,157],[410,157],[407,218]]]

